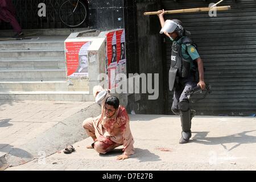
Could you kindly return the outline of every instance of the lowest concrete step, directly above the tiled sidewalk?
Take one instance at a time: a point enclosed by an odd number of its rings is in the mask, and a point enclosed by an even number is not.
[[[70,92],[70,91],[52,91],[52,92],[0,92],[0,100],[14,101],[95,101],[93,95],[89,92]]]

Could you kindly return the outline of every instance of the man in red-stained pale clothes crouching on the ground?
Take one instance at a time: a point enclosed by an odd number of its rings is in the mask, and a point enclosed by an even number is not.
[[[119,105],[117,97],[109,96],[102,102],[102,112],[97,118],[88,118],[82,123],[86,133],[94,143],[87,148],[94,148],[100,154],[106,154],[115,147],[123,145],[123,154],[117,159],[128,159],[134,154],[134,140],[130,131],[130,119],[125,107]]]

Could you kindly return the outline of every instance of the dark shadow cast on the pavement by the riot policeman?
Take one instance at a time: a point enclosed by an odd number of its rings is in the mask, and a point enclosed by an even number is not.
[[[241,144],[244,143],[256,143],[256,137],[252,135],[246,135],[247,133],[253,132],[256,130],[251,131],[243,131],[241,133],[228,135],[225,137],[207,137],[209,131],[201,131],[201,132],[192,132],[196,135],[192,138],[191,142],[193,143],[201,143],[201,144],[208,144],[208,145],[214,145],[214,144],[221,144],[225,150],[231,151],[234,148],[237,148]],[[231,148],[227,148],[224,144],[225,143],[237,143]]]

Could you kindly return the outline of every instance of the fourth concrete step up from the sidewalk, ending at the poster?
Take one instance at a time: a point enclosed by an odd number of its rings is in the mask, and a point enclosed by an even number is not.
[[[61,59],[15,59],[0,60],[0,69],[16,69],[16,68],[65,68],[65,60]]]

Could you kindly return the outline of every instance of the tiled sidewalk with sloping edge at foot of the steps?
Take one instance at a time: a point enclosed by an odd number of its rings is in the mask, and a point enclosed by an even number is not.
[[[93,104],[73,101],[1,101],[0,168],[1,162],[3,164],[6,160],[11,166],[16,166],[37,158],[40,150],[51,155],[67,142],[86,138],[81,133],[82,129],[76,128],[89,116],[83,111]],[[65,137],[65,134],[73,135]]]

